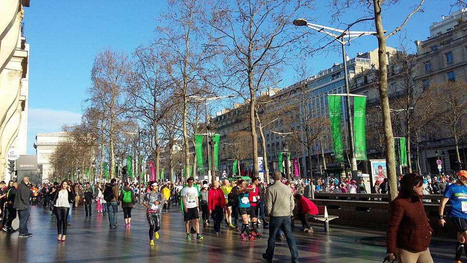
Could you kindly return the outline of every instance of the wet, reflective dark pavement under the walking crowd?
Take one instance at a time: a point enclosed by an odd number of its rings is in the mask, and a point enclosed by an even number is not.
[[[95,208],[95,205],[93,205]],[[119,207],[120,209],[120,207]],[[94,209],[95,210],[95,209]],[[149,246],[145,210],[137,205],[132,211],[132,226],[124,228],[123,212],[118,213],[119,226],[108,228],[108,218],[93,213],[85,217],[84,207],[73,210],[72,226],[66,242],[57,242],[56,220],[42,207],[32,207],[29,220],[30,238],[18,238],[18,233],[0,233],[1,254],[7,253],[3,262],[265,262],[268,230],[260,226],[264,237],[253,242],[243,242],[238,233],[224,226],[216,237],[212,224],[201,225],[203,241],[186,241],[180,207],[173,207],[162,214],[160,239]],[[211,220],[212,221],[212,220]],[[340,227],[331,224],[331,233],[323,232],[322,224],[314,224],[315,233],[303,233],[295,221],[294,236],[299,249],[300,262],[382,262],[385,247],[364,245],[357,242],[364,237],[384,236],[381,230]],[[14,222],[15,228],[18,221]],[[434,240],[431,252],[434,262],[452,262],[452,240]],[[290,252],[285,240],[276,243],[274,262],[290,262]]]

